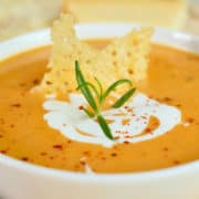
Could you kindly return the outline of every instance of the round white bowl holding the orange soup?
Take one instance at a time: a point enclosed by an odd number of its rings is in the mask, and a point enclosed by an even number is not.
[[[133,24],[78,24],[81,39],[123,35]],[[199,39],[157,29],[153,40],[199,54]],[[50,30],[0,43],[0,61],[50,44]],[[25,164],[0,155],[0,199],[198,199],[199,161],[156,171],[84,175]]]

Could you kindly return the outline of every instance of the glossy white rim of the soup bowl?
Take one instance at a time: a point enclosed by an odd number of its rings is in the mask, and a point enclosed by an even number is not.
[[[137,29],[139,25],[132,23],[86,23],[75,25],[78,38],[81,39],[103,39],[123,35],[132,29]],[[95,31],[93,31],[95,30]],[[103,31],[102,31],[103,30]],[[117,30],[117,31],[116,31]],[[157,28],[153,42],[171,45],[199,54],[199,38],[179,31],[170,31]],[[51,44],[50,29],[44,29],[35,32],[30,32],[11,40],[0,43],[0,61],[13,56],[20,52],[34,50]],[[191,45],[189,45],[191,43]],[[195,45],[192,45],[195,44]],[[2,51],[3,50],[3,51]],[[23,163],[21,160],[8,157],[0,154],[0,165],[14,168],[21,171],[31,172],[46,177],[59,178],[73,181],[92,181],[117,184],[119,181],[150,181],[171,176],[199,172],[199,160],[184,164],[176,167],[163,168],[149,171],[124,172],[124,174],[82,174],[69,170],[60,170],[46,168],[44,166]]]

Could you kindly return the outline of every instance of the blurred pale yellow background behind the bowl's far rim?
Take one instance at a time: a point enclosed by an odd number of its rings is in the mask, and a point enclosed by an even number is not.
[[[199,0],[0,0],[0,41],[51,27],[61,12],[77,22],[134,22],[199,34]]]

